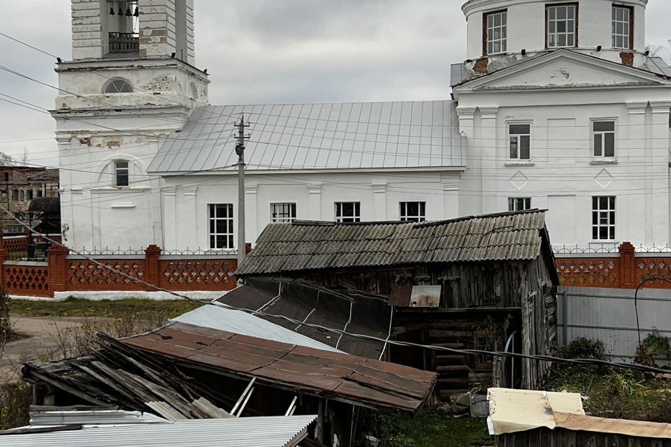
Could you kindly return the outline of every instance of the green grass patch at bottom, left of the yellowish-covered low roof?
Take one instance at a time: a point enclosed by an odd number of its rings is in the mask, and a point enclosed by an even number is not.
[[[386,447],[482,447],[492,445],[486,419],[454,418],[428,409],[415,418],[380,416],[377,433]]]

